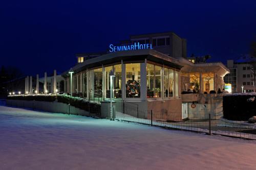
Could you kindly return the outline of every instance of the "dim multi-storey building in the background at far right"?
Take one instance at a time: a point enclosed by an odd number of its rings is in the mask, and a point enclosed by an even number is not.
[[[251,55],[243,55],[236,61],[227,60],[230,74],[224,77],[224,82],[232,85],[232,92],[242,92],[242,87],[245,92],[254,92],[253,67],[250,64],[253,59]]]

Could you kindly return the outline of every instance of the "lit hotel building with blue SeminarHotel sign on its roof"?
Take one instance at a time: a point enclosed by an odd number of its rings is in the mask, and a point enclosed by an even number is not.
[[[143,47],[138,47],[142,44]],[[73,95],[98,103],[108,101],[109,74],[113,70],[116,111],[134,116],[140,112],[146,117],[150,110],[158,110],[163,119],[174,115],[186,118],[189,105],[194,102],[205,105],[202,94],[223,89],[223,77],[229,73],[221,62],[187,58],[186,40],[172,32],[133,35],[118,45],[110,45],[106,53],[76,57],[78,63],[72,67]],[[62,76],[65,92],[70,93],[69,71]],[[183,91],[195,93],[182,94]]]

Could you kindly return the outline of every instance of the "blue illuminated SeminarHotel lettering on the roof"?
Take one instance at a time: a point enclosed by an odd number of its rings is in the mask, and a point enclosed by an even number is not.
[[[110,53],[119,52],[119,51],[142,50],[142,49],[153,49],[152,44],[140,44],[139,42],[135,42],[132,45],[119,45],[119,46],[114,46],[113,44],[110,44]]]

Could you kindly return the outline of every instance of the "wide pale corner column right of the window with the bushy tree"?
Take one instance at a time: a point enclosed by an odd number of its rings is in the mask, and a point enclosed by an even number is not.
[[[146,101],[146,59],[144,63],[140,63],[140,98]]]

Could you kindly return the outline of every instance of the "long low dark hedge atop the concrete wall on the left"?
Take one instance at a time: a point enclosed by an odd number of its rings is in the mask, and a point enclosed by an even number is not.
[[[26,100],[26,101],[45,101],[57,102],[70,104],[71,106],[77,107],[82,110],[90,111],[90,113],[100,114],[100,105],[96,103],[91,103],[82,98],[72,97],[70,95],[60,94],[60,95],[14,95],[7,96],[9,100]]]

